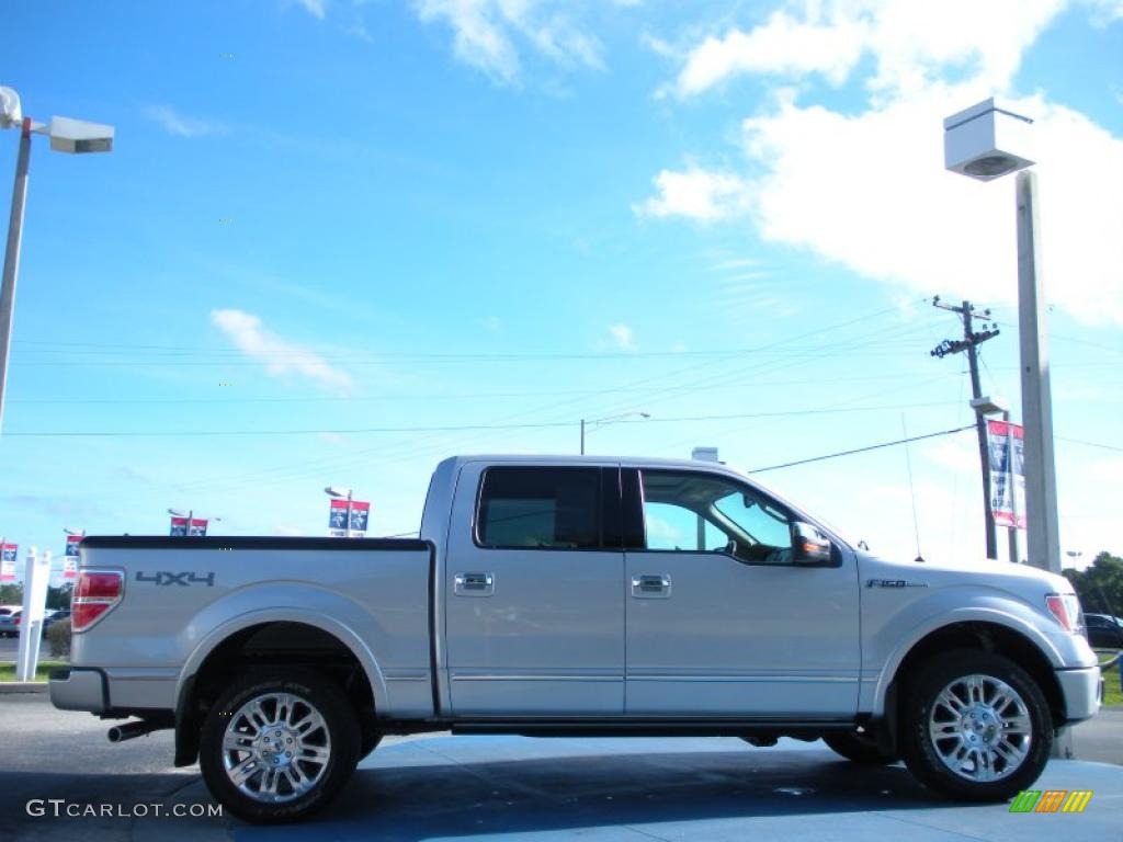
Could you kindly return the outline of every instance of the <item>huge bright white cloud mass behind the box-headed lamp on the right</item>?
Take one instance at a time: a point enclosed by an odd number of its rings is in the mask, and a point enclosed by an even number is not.
[[[659,194],[633,210],[705,220],[747,209],[763,239],[806,249],[897,292],[1013,303],[1013,180],[973,182],[946,172],[942,159],[941,119],[997,95],[1035,119],[1048,299],[1086,322],[1123,323],[1116,195],[1123,140],[1042,94],[1010,89],[1024,51],[1063,6],[809,0],[737,37],[706,39],[686,58],[681,93],[738,73],[786,74],[788,84],[866,70],[859,81],[868,101],[844,112],[814,101],[813,88],[778,88],[773,104],[742,123],[745,175],[664,170],[656,176]],[[815,38],[825,46],[809,56]],[[859,61],[867,54],[873,62]]]

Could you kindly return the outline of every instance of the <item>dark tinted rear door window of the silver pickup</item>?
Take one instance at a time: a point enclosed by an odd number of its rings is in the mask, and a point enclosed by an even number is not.
[[[476,538],[483,547],[599,549],[600,468],[489,468]]]

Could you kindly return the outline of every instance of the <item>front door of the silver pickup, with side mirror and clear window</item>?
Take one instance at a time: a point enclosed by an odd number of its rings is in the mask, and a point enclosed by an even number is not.
[[[624,468],[629,714],[857,712],[856,561],[792,564],[793,515],[716,473]]]

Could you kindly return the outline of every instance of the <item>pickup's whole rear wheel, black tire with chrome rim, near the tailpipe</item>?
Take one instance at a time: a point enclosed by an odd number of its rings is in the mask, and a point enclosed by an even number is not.
[[[255,701],[261,713],[250,719]],[[225,749],[228,733],[244,748]],[[211,795],[238,818],[298,822],[344,788],[360,740],[355,708],[329,678],[305,668],[262,668],[230,685],[207,714],[199,768]],[[271,760],[276,766],[267,766]],[[240,786],[231,775],[243,778]]]

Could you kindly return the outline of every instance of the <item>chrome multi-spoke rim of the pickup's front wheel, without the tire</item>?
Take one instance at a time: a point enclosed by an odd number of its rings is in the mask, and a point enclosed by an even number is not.
[[[935,697],[928,733],[948,769],[969,781],[1002,780],[1030,753],[1033,724],[1025,701],[985,675],[956,678]]]

